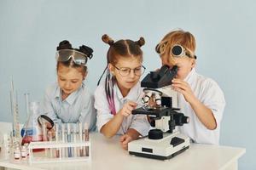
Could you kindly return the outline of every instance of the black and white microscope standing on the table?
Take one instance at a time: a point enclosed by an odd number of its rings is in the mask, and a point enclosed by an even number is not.
[[[176,74],[177,65],[172,68],[163,65],[159,71],[148,73],[141,82],[145,94],[142,99],[143,107],[133,110],[132,114],[147,115],[148,122],[154,128],[148,132],[148,136],[128,144],[131,155],[166,160],[189,149],[189,137],[175,129],[176,126],[188,123],[189,117],[173,107],[172,96],[168,96],[165,90],[172,84]],[[170,92],[170,88],[168,91]]]

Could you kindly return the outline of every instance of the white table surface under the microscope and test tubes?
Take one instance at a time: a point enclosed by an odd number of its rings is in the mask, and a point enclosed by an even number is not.
[[[92,159],[86,162],[58,162],[29,165],[24,161],[10,162],[1,160],[0,167],[16,169],[195,169],[216,170],[236,169],[237,160],[246,152],[243,148],[218,146],[211,144],[191,144],[189,150],[173,157],[170,160],[159,161],[149,158],[129,155],[119,144],[119,136],[106,139],[100,133],[90,133],[92,145]]]

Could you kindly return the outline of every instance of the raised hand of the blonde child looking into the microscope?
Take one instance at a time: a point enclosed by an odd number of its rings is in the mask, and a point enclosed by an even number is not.
[[[183,94],[183,97],[187,102],[191,103],[195,99],[195,95],[191,90],[188,82],[185,82],[181,79],[173,78],[172,87],[178,93]]]

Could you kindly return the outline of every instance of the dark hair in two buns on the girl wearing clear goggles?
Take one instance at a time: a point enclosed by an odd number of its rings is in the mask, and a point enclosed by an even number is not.
[[[59,46],[56,49],[57,49],[57,51],[61,50],[61,49],[73,49],[73,50],[79,51],[80,53],[85,54],[90,59],[93,56],[92,48],[85,46],[85,45],[82,45],[79,48],[72,48],[72,44],[70,42],[68,42],[67,40],[60,42]],[[58,71],[60,65],[64,65],[66,67],[72,67],[72,68],[81,68],[83,75],[85,75],[85,73],[87,72],[87,66],[77,65],[76,63],[73,62],[73,59],[68,59],[67,61],[57,61],[57,66],[56,66],[57,71]]]

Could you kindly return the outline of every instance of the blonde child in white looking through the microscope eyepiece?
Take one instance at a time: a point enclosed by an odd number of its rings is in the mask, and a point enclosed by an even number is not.
[[[218,144],[224,94],[217,82],[195,71],[195,37],[189,31],[171,31],[155,49],[162,65],[177,65],[177,77],[169,90],[177,92],[177,107],[190,118],[179,127],[181,132],[196,143]]]

